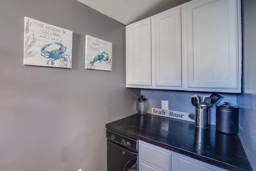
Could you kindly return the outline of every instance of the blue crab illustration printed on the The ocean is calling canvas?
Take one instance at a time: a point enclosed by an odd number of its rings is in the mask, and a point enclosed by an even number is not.
[[[52,42],[54,44],[58,44],[60,45],[60,48],[57,49],[57,50],[52,50],[52,51],[48,51],[46,50],[46,48],[48,48],[49,46],[51,46],[52,44],[46,44],[44,45],[42,48],[41,48],[41,55],[44,57],[44,58],[49,58],[50,60],[48,60],[46,62],[46,64],[49,64],[49,61],[51,61],[51,64],[54,65],[54,61],[55,60],[58,60],[60,58],[63,58],[63,61],[66,61],[66,58],[65,56],[68,56],[68,55],[65,55],[64,53],[66,52],[66,47],[63,46],[63,44],[59,43],[59,42]],[[69,57],[69,56],[68,56]]]

